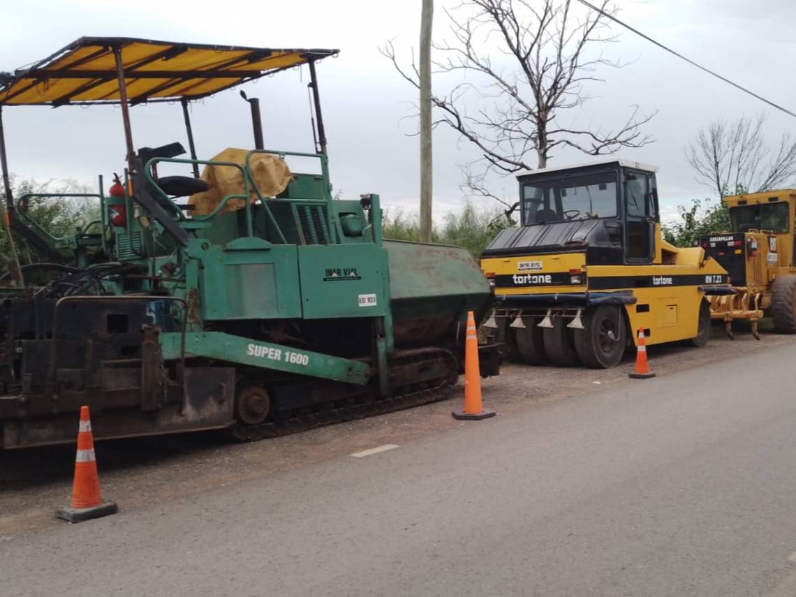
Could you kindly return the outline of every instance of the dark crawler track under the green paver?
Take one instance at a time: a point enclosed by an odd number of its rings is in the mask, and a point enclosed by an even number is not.
[[[391,365],[425,361],[428,357],[443,358],[447,361],[448,373],[445,377],[427,380],[423,384],[408,384],[395,388],[392,396],[388,398],[379,398],[373,392],[365,392],[357,396],[356,404],[344,404],[341,407],[336,407],[337,403],[321,404],[318,405],[317,412],[289,413],[287,417],[261,425],[235,423],[231,428],[232,435],[240,441],[255,442],[445,400],[453,386],[454,374],[458,376],[458,364],[449,351],[443,349],[408,351],[394,359]]]

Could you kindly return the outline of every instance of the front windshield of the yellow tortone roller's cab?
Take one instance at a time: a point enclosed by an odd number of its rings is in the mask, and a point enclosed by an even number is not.
[[[522,187],[523,223],[616,217],[616,198],[615,172],[529,182]]]

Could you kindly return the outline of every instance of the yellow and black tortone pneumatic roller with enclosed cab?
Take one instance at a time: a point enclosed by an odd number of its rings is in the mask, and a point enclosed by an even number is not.
[[[704,345],[706,295],[732,292],[704,249],[661,237],[656,168],[611,160],[519,181],[521,225],[483,252],[501,337],[532,365],[612,367],[647,344]]]

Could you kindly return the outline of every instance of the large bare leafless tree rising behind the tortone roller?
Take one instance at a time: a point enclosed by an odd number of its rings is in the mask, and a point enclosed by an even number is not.
[[[607,0],[601,8],[612,12]],[[451,127],[482,155],[466,165],[470,189],[490,194],[486,174],[544,168],[556,148],[601,155],[652,141],[641,127],[653,115],[638,107],[613,129],[560,123],[562,112],[589,99],[583,84],[599,80],[595,68],[621,65],[587,53],[614,39],[602,15],[578,17],[571,9],[570,0],[463,0],[445,11],[452,41],[434,44],[442,57],[434,61],[435,74],[458,74],[460,82],[431,101],[439,115],[435,125]],[[419,87],[414,57],[404,68],[392,42],[382,53]]]

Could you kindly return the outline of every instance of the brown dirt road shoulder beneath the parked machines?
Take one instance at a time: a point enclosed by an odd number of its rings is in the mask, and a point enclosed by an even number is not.
[[[739,330],[736,340],[731,341],[714,328],[704,349],[651,346],[648,354],[651,369],[665,376],[717,359],[741,358],[755,349],[788,349],[794,345],[796,336],[767,333],[761,341],[755,341],[751,334]],[[627,377],[633,366],[630,354],[615,369],[507,364],[499,377],[483,382],[485,406],[497,411],[498,416],[509,416],[518,409],[564,400],[595,388],[620,384],[641,387],[643,381]],[[103,497],[117,501],[120,509],[138,509],[384,443],[406,443],[417,435],[478,424],[451,418],[451,408],[458,407],[461,400],[459,384],[451,398],[443,402],[258,443],[234,443],[219,432],[99,443],[96,451]],[[73,446],[55,446],[0,452],[0,540],[63,524],[53,514],[59,505],[68,504],[74,450]]]

